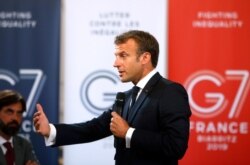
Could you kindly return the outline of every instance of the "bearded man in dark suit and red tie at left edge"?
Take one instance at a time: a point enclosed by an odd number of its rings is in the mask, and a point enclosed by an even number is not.
[[[17,136],[25,109],[26,103],[20,93],[13,90],[0,91],[1,165],[39,164],[32,144],[26,139]]]

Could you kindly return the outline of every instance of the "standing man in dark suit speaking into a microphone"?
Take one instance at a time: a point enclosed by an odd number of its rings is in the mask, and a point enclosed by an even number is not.
[[[191,111],[182,85],[156,70],[157,40],[139,30],[115,38],[115,61],[122,82],[139,87],[131,107],[132,90],[125,92],[121,115],[110,109],[78,124],[49,124],[40,104],[33,122],[47,144],[61,146],[115,136],[116,165],[176,165],[188,147]]]

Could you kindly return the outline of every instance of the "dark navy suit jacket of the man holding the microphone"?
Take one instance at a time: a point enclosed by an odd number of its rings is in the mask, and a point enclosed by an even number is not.
[[[125,92],[122,116],[125,118],[131,90]],[[191,111],[186,90],[156,73],[142,90],[130,110],[128,123],[135,131],[131,148],[125,140],[115,140],[116,165],[175,165],[188,147]],[[58,124],[55,146],[95,141],[112,135],[108,110],[91,121]]]

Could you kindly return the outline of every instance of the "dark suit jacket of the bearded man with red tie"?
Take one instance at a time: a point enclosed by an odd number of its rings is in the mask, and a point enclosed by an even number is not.
[[[39,163],[31,143],[28,142],[26,139],[19,136],[14,136],[13,144],[15,152],[15,165],[25,165],[25,163],[28,160],[33,160]],[[0,149],[0,165],[6,165],[5,157],[1,149]]]

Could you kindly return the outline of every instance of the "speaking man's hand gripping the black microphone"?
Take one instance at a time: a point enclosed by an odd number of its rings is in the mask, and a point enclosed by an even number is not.
[[[119,138],[125,138],[126,133],[129,129],[129,125],[126,120],[124,120],[120,115],[116,112],[111,113],[112,118],[110,122],[110,130],[111,132]]]

